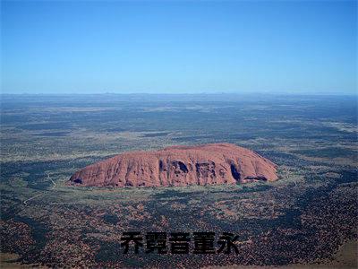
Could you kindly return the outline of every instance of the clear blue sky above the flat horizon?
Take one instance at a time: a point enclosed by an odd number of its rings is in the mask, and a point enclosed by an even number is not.
[[[1,1],[2,93],[357,93],[356,1]]]

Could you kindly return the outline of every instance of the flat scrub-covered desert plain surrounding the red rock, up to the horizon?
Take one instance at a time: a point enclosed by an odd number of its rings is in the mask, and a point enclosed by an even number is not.
[[[356,97],[3,95],[0,135],[6,266],[356,265]],[[250,148],[276,162],[280,178],[65,185],[77,169],[120,152],[198,143]],[[120,239],[131,230],[228,231],[239,236],[239,254],[124,255]]]

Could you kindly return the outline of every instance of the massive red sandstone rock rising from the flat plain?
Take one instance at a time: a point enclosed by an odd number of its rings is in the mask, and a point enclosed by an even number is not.
[[[157,152],[124,152],[75,172],[69,184],[160,187],[277,180],[277,166],[230,143],[172,146]]]

